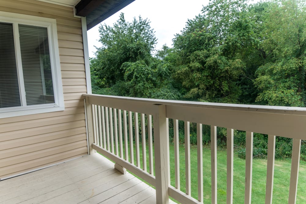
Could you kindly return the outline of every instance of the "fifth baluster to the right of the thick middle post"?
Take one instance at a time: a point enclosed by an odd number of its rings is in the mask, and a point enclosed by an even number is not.
[[[233,203],[233,161],[234,161],[234,130],[227,128],[227,176],[226,176],[226,203]]]

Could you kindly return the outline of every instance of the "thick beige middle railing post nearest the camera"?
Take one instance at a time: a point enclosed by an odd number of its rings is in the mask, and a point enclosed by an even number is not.
[[[156,203],[169,203],[168,148],[166,130],[166,105],[156,105],[154,120],[154,153],[155,153],[155,180]]]

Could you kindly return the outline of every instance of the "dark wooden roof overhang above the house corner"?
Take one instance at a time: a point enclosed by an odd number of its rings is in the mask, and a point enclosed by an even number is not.
[[[81,0],[76,15],[86,17],[87,30],[123,9],[135,0]]]

